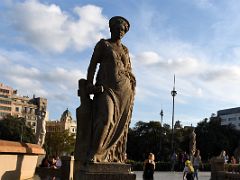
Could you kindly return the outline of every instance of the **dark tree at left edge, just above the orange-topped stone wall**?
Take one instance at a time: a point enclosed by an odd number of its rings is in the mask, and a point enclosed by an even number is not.
[[[0,139],[35,143],[35,135],[32,129],[26,126],[26,120],[22,117],[7,116],[2,119],[0,121]]]

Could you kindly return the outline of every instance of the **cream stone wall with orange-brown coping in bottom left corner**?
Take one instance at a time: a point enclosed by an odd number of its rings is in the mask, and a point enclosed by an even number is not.
[[[41,146],[0,140],[0,179],[29,179],[34,176]]]

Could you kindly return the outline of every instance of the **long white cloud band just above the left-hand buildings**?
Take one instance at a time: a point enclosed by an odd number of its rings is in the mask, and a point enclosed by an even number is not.
[[[6,80],[14,88],[26,95],[36,94],[49,98],[57,90],[58,93],[68,94],[76,91],[78,79],[84,77],[84,73],[75,68],[63,68],[44,65],[24,65],[16,61],[18,55],[8,57],[0,51],[1,81]],[[19,53],[15,53],[19,54]],[[21,54],[21,53],[20,53]],[[16,59],[12,59],[16,58]],[[20,56],[21,58],[21,56]],[[26,56],[26,61],[28,56]]]

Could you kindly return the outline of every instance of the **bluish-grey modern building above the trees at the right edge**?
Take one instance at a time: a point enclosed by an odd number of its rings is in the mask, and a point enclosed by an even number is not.
[[[221,125],[233,124],[240,130],[240,107],[219,110],[217,115],[221,118]]]

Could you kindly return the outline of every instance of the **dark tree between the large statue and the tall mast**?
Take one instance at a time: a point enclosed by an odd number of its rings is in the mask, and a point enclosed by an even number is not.
[[[143,161],[152,152],[156,160],[167,160],[170,155],[170,126],[158,121],[139,121],[129,129],[127,141],[128,158]]]

